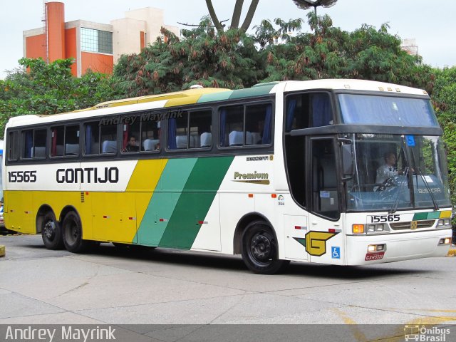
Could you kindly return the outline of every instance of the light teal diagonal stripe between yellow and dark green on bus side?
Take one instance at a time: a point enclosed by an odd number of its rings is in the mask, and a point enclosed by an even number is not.
[[[157,246],[197,158],[168,160],[140,223],[138,243]]]

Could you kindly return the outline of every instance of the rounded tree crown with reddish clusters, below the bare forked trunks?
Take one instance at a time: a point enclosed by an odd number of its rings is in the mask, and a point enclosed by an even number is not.
[[[122,56],[114,75],[128,96],[166,93],[193,84],[242,88],[264,76],[252,36],[237,29],[216,32],[208,17],[182,39],[162,28],[160,38],[138,54]]]

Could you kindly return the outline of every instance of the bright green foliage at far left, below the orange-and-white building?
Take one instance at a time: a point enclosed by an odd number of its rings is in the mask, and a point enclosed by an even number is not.
[[[25,114],[55,114],[115,98],[114,78],[88,71],[83,77],[71,75],[72,59],[47,64],[43,59],[21,58],[23,68],[0,80],[0,134],[9,118]]]

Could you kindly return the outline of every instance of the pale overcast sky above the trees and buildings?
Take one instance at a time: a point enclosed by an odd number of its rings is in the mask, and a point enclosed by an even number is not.
[[[83,19],[110,24],[124,17],[130,9],[151,6],[165,10],[165,24],[184,27],[177,21],[197,24],[207,15],[204,0],[63,0],[65,19]],[[220,20],[230,19],[234,0],[213,0]],[[247,10],[250,0],[244,1]],[[308,11],[298,9],[292,0],[260,0],[252,26],[262,19],[304,18]],[[435,67],[456,65],[456,1],[442,0],[338,0],[329,9],[318,7],[318,14],[328,14],[333,25],[346,31],[369,24],[379,28],[390,25],[390,33],[400,38],[415,38],[425,63]],[[5,71],[19,66],[23,57],[22,31],[43,26],[42,0],[0,0],[0,78]],[[242,18],[243,20],[243,18]],[[251,27],[252,27],[251,26]],[[309,31],[304,26],[303,31]]]

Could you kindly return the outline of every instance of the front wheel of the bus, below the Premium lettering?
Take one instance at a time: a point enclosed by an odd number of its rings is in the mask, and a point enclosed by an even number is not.
[[[277,241],[269,224],[255,221],[242,234],[242,260],[257,274],[275,274],[289,261],[278,259]]]

